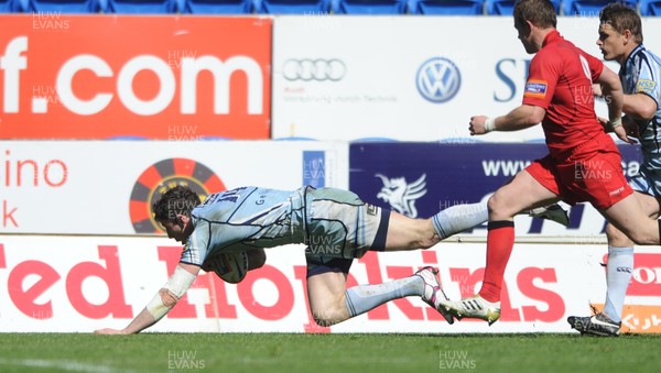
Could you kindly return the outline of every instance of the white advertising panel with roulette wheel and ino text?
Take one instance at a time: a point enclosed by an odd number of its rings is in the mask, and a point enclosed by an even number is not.
[[[149,208],[174,183],[348,187],[346,143],[177,140],[0,142],[0,232],[155,233]]]

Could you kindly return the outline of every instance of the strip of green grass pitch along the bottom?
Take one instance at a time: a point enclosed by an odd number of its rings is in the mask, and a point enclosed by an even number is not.
[[[0,372],[659,372],[661,336],[0,333]],[[178,369],[177,369],[178,367]]]

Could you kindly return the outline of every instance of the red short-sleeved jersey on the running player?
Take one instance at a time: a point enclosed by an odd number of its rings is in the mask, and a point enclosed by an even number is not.
[[[544,39],[532,58],[523,103],[546,109],[542,128],[551,155],[567,156],[572,149],[604,134],[597,121],[592,84],[604,63],[566,41],[556,30]]]

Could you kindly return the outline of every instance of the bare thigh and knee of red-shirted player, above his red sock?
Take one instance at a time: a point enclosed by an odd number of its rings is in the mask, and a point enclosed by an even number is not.
[[[557,199],[557,195],[523,169],[489,198],[489,220],[508,220],[521,211],[545,206]]]

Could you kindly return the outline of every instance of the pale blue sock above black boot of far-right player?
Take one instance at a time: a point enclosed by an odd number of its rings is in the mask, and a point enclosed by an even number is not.
[[[620,322],[627,287],[633,272],[633,248],[608,246],[606,265],[606,305],[604,314],[613,321]]]

